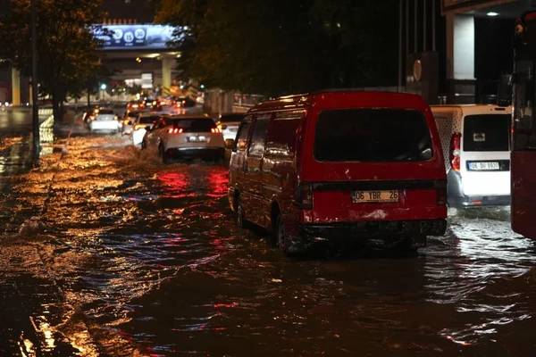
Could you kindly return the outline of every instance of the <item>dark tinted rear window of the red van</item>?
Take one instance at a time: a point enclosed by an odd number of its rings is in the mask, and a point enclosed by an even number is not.
[[[432,157],[422,112],[348,109],[319,115],[314,157],[325,162],[425,161]]]

